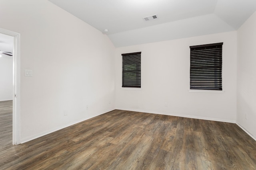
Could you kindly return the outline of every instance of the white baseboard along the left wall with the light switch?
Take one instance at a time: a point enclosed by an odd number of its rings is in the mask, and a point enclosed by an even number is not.
[[[104,111],[103,113],[100,113],[100,114],[98,114],[98,115],[102,115],[102,114],[107,113],[107,112],[112,111],[112,110],[114,110],[114,109],[110,109],[110,110],[108,110],[108,111]],[[95,116],[92,116],[92,117],[96,117],[96,116],[98,116],[98,115],[95,115]],[[36,138],[38,138],[38,137],[42,137],[42,136],[44,136],[44,135],[48,135],[48,134],[50,134],[50,133],[52,133],[52,132],[58,131],[58,130],[63,129],[63,128],[65,128],[65,127],[69,127],[69,126],[74,125],[74,124],[76,124],[76,123],[80,123],[80,122],[82,122],[82,121],[91,119],[92,117],[89,117],[89,118],[86,118],[86,119],[77,120],[77,121],[73,121],[73,122],[71,122],[71,123],[68,123],[68,124],[65,124],[65,125],[56,127],[56,128],[54,128],[54,129],[50,129],[50,130],[48,130],[48,131],[44,131],[44,132],[39,133],[39,134],[37,134],[37,135],[33,135],[33,136],[30,136],[30,137],[26,137],[26,138],[24,138],[24,139],[21,140],[21,143],[26,143],[26,142],[28,142],[28,141],[32,141],[33,139],[36,139]]]

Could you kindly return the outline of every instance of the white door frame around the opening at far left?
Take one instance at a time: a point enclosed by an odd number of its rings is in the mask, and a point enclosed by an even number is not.
[[[12,71],[12,144],[20,144],[20,33],[0,28],[0,33],[14,39]]]

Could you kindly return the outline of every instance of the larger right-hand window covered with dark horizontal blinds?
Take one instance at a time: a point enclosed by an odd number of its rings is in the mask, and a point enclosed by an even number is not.
[[[190,46],[190,89],[222,90],[222,45]]]

